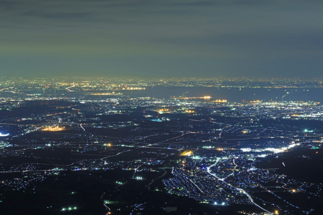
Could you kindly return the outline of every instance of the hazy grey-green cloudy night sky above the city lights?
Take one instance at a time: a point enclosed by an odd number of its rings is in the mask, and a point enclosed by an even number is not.
[[[323,77],[323,1],[0,0],[0,76]]]

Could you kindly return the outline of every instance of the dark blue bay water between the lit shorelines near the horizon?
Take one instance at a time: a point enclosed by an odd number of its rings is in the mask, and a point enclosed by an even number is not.
[[[322,102],[323,88],[217,88],[217,87],[153,87],[144,91],[123,91],[124,95],[132,97],[169,98],[172,96],[203,97],[211,96],[212,99],[227,99],[239,102],[244,99],[281,101],[315,101]]]

